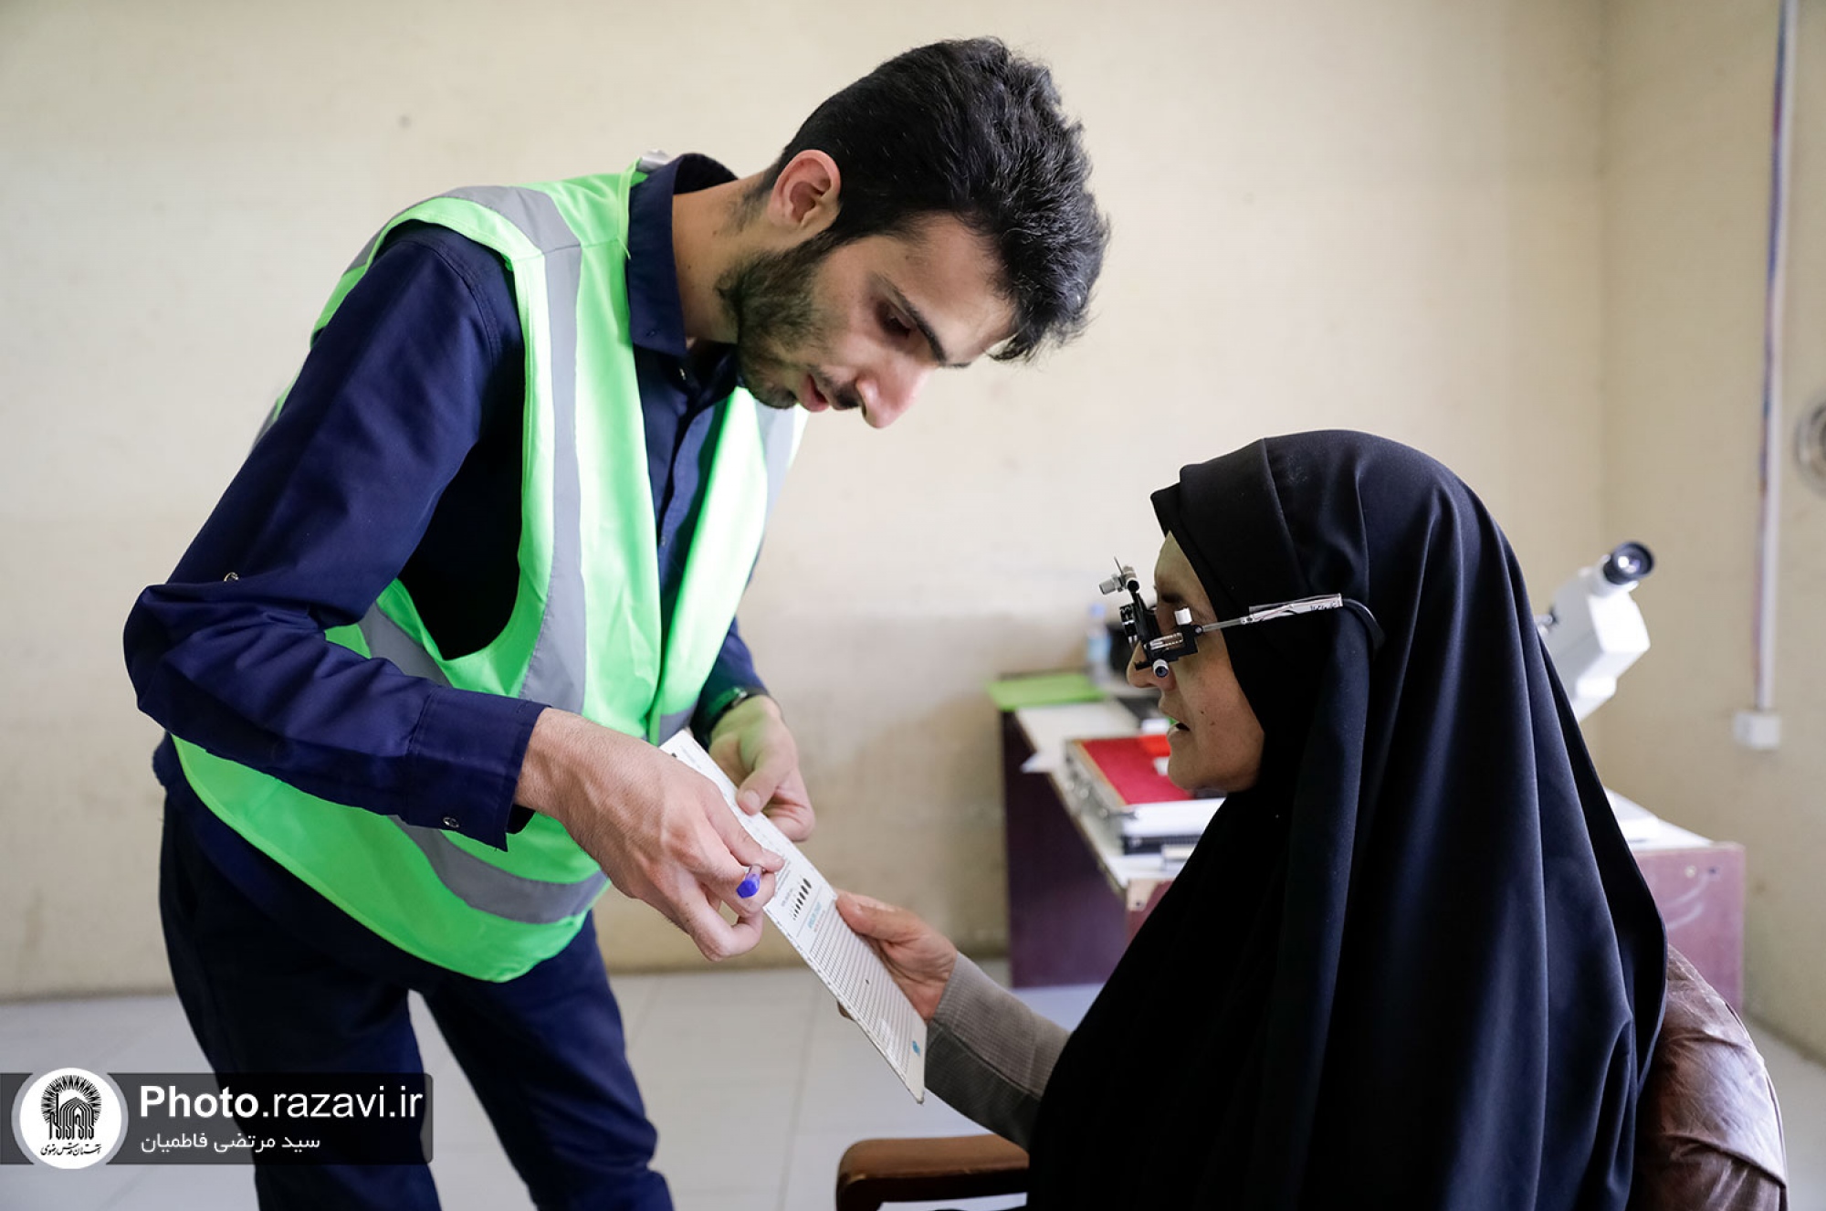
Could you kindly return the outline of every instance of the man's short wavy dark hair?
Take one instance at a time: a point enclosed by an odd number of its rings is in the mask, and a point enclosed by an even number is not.
[[[825,250],[950,214],[1001,259],[1015,329],[999,362],[1083,331],[1110,228],[1085,188],[1083,124],[1059,111],[1043,64],[997,38],[897,55],[818,106],[752,199],[805,150],[842,174],[836,219],[818,236]]]

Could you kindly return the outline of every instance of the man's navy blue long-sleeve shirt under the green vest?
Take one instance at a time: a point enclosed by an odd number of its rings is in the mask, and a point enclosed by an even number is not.
[[[736,382],[727,345],[687,351],[672,195],[729,179],[688,155],[630,195],[628,314],[666,621],[714,405]],[[444,656],[493,639],[519,581],[524,391],[506,265],[446,228],[402,226],[316,336],[170,581],[135,603],[126,661],[141,709],[320,798],[506,846],[526,822],[513,789],[544,703],[435,685],[323,630],[358,621],[398,577]],[[703,701],[738,685],[760,679],[732,625]],[[232,868],[239,838],[195,800],[170,738],[153,765]]]

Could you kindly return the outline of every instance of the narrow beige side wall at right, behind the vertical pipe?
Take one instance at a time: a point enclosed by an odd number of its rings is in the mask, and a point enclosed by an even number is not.
[[[1791,426],[1826,396],[1826,4],[1802,0],[1777,707],[1749,753],[1777,2],[1627,0],[1605,29],[1605,524],[1660,557],[1654,650],[1607,707],[1611,784],[1749,853],[1749,1010],[1826,1054],[1826,500]]]

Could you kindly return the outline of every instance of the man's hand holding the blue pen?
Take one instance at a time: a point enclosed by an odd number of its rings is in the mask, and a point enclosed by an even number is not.
[[[761,941],[761,906],[785,858],[749,837],[716,784],[645,740],[546,709],[513,800],[562,824],[623,895],[665,913],[707,959]],[[750,866],[765,873],[741,899]],[[734,910],[734,924],[721,904]]]

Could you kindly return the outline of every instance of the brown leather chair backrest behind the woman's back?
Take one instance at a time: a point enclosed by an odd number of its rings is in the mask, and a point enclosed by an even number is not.
[[[1667,948],[1667,1010],[1636,1105],[1631,1211],[1786,1211],[1782,1111],[1749,1030]]]

